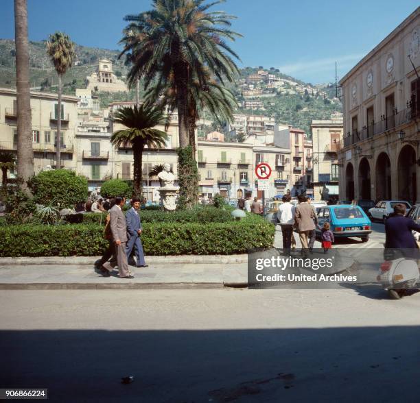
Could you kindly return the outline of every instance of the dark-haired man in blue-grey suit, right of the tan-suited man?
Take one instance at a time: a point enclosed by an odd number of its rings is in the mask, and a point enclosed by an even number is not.
[[[141,220],[139,216],[139,208],[140,208],[140,199],[139,197],[133,197],[131,199],[131,206],[130,210],[128,210],[126,215],[127,221],[127,259],[130,259],[130,255],[132,252],[133,247],[135,248],[136,252],[136,266],[137,267],[148,267],[148,265],[144,262],[144,252],[143,252],[143,245],[141,244],[140,234],[143,232],[143,228],[141,227]]]

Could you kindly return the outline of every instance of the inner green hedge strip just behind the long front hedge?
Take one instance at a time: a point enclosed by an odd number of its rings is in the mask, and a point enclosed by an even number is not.
[[[83,215],[83,223],[100,223],[108,213],[93,212]],[[102,221],[101,221],[102,217]],[[194,208],[165,212],[159,210],[140,210],[141,223],[225,223],[233,221],[229,210],[215,207]]]

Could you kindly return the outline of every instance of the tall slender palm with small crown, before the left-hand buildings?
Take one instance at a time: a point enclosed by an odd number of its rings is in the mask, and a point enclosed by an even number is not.
[[[74,44],[70,37],[62,32],[56,32],[47,40],[47,54],[58,74],[58,106],[57,106],[57,138],[56,138],[56,169],[61,168],[61,95],[62,76],[65,75],[75,59]]]

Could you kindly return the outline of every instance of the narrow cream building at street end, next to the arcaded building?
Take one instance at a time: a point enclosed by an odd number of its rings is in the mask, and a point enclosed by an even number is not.
[[[331,119],[313,120],[311,124],[314,148],[313,183],[314,199],[337,199],[339,197],[338,153],[342,148],[342,113],[331,114]]]

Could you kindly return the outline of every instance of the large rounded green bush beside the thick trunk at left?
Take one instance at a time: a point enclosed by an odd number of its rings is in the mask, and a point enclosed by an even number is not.
[[[74,208],[88,197],[88,183],[84,176],[67,169],[41,171],[30,181],[34,201],[39,204],[56,204],[60,208]]]

